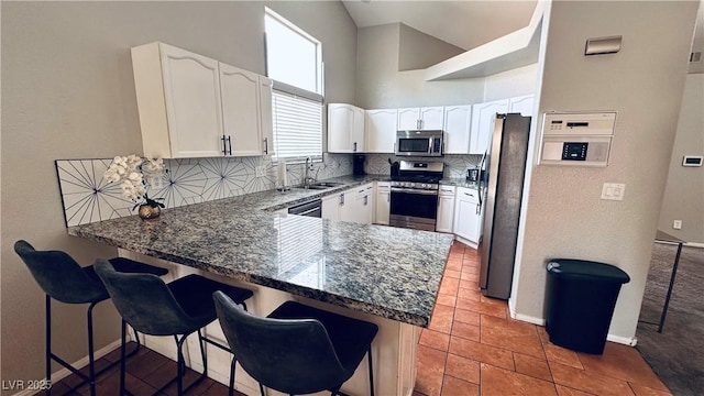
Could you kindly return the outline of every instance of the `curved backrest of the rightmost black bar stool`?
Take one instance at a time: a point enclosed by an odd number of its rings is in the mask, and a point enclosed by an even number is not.
[[[339,386],[350,376],[318,320],[262,318],[221,292],[213,298],[234,358],[262,385],[286,394],[309,394]]]

